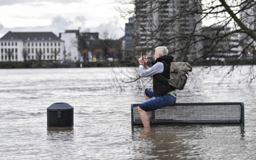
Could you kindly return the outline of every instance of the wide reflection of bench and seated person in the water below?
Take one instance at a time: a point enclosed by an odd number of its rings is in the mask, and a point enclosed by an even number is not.
[[[216,139],[225,139],[230,133],[235,133],[236,140],[244,140],[244,127],[240,125],[135,126],[132,137],[138,145],[133,149],[141,159],[204,159],[207,156],[202,157],[203,153],[219,145]]]

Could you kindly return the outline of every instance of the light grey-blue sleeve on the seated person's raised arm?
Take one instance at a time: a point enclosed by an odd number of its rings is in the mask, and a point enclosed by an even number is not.
[[[161,62],[157,62],[151,68],[144,69],[142,65],[140,65],[140,76],[141,77],[151,77],[153,75],[164,72],[164,64]]]

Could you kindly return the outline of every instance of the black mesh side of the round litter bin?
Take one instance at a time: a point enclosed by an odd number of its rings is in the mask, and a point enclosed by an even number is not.
[[[74,110],[61,111],[58,118],[57,111],[47,111],[47,126],[51,127],[66,127],[73,126]]]

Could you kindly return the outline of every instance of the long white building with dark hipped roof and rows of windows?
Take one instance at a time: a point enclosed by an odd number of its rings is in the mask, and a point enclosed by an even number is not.
[[[11,32],[0,39],[0,62],[63,60],[64,41],[52,32]]]

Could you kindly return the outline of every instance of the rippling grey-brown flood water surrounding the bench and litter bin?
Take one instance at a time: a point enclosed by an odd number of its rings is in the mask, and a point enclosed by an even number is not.
[[[111,68],[0,69],[0,160],[13,159],[256,159],[256,82],[249,66],[193,68],[182,102],[244,102],[240,125],[157,125],[131,128],[131,103],[143,92],[112,87]],[[118,70],[118,68],[114,68]],[[256,69],[256,68],[254,68]],[[192,78],[193,77],[193,78]],[[73,128],[47,128],[47,107],[74,107]]]

